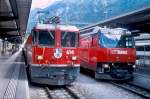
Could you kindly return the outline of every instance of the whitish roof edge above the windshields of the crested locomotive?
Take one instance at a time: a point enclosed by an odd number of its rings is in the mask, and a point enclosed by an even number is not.
[[[35,29],[42,29],[42,30],[54,30],[60,29],[62,31],[79,31],[76,26],[71,25],[53,25],[53,24],[37,24]]]

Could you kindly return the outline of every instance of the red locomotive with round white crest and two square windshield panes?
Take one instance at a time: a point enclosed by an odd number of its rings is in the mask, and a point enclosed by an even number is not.
[[[79,30],[75,26],[37,24],[23,53],[31,82],[67,85],[79,74]]]

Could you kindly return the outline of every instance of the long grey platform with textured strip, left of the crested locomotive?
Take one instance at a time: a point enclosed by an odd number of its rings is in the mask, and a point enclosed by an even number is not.
[[[0,55],[0,99],[29,99],[29,86],[21,53]]]

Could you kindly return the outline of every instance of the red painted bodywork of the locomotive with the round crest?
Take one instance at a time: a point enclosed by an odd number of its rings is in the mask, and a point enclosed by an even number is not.
[[[34,28],[32,31],[40,31],[40,30],[44,30],[44,29]],[[33,34],[30,34],[25,44],[25,53],[27,56],[28,64],[40,64],[40,65],[44,64],[47,66],[50,66],[50,65],[62,65],[63,66],[64,64],[65,65],[67,64],[68,66],[79,65],[80,64],[79,48],[78,47],[61,47],[61,33],[60,32],[62,30],[56,27],[54,31],[55,31],[55,46],[54,47],[40,46],[37,42],[36,44],[33,44],[33,40],[32,40]],[[65,32],[75,32],[77,34],[79,33],[79,31],[76,31],[76,30],[71,31],[70,29],[69,31],[66,30]],[[62,57],[59,59],[54,57],[54,53],[57,48],[59,48],[62,51]],[[66,54],[67,50],[71,50],[74,53],[68,55]],[[38,56],[42,56],[43,59],[40,61],[37,60]],[[73,56],[76,56],[77,60],[72,60]]]

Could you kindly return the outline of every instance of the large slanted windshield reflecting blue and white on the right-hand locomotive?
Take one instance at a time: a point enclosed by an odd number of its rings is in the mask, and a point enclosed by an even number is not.
[[[133,37],[131,35],[125,35],[122,30],[111,30],[99,32],[99,44],[101,47],[106,48],[132,48]]]

